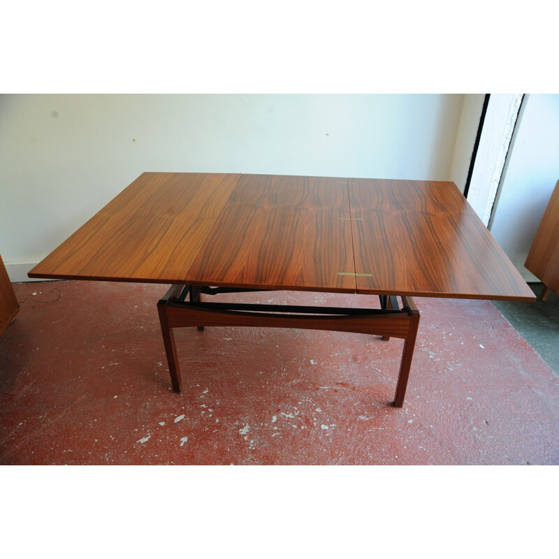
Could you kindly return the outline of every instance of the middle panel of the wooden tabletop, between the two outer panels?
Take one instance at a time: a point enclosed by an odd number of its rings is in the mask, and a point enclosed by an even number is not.
[[[349,217],[344,179],[243,175],[185,283],[354,292]]]

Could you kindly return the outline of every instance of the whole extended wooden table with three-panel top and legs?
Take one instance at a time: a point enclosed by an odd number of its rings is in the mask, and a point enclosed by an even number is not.
[[[143,173],[29,277],[172,284],[157,306],[177,392],[174,328],[403,338],[396,407],[419,326],[413,296],[535,300],[455,184],[414,180]],[[280,289],[368,293],[380,308],[206,300]]]

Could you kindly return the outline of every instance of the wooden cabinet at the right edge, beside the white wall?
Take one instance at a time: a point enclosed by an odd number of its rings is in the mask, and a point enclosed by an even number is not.
[[[559,295],[559,180],[539,224],[524,264],[543,284],[542,300]]]

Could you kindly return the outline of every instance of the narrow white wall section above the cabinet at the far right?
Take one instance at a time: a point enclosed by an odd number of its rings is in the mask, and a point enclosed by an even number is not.
[[[529,282],[539,279],[524,262],[558,180],[559,94],[525,95],[490,230]]]

